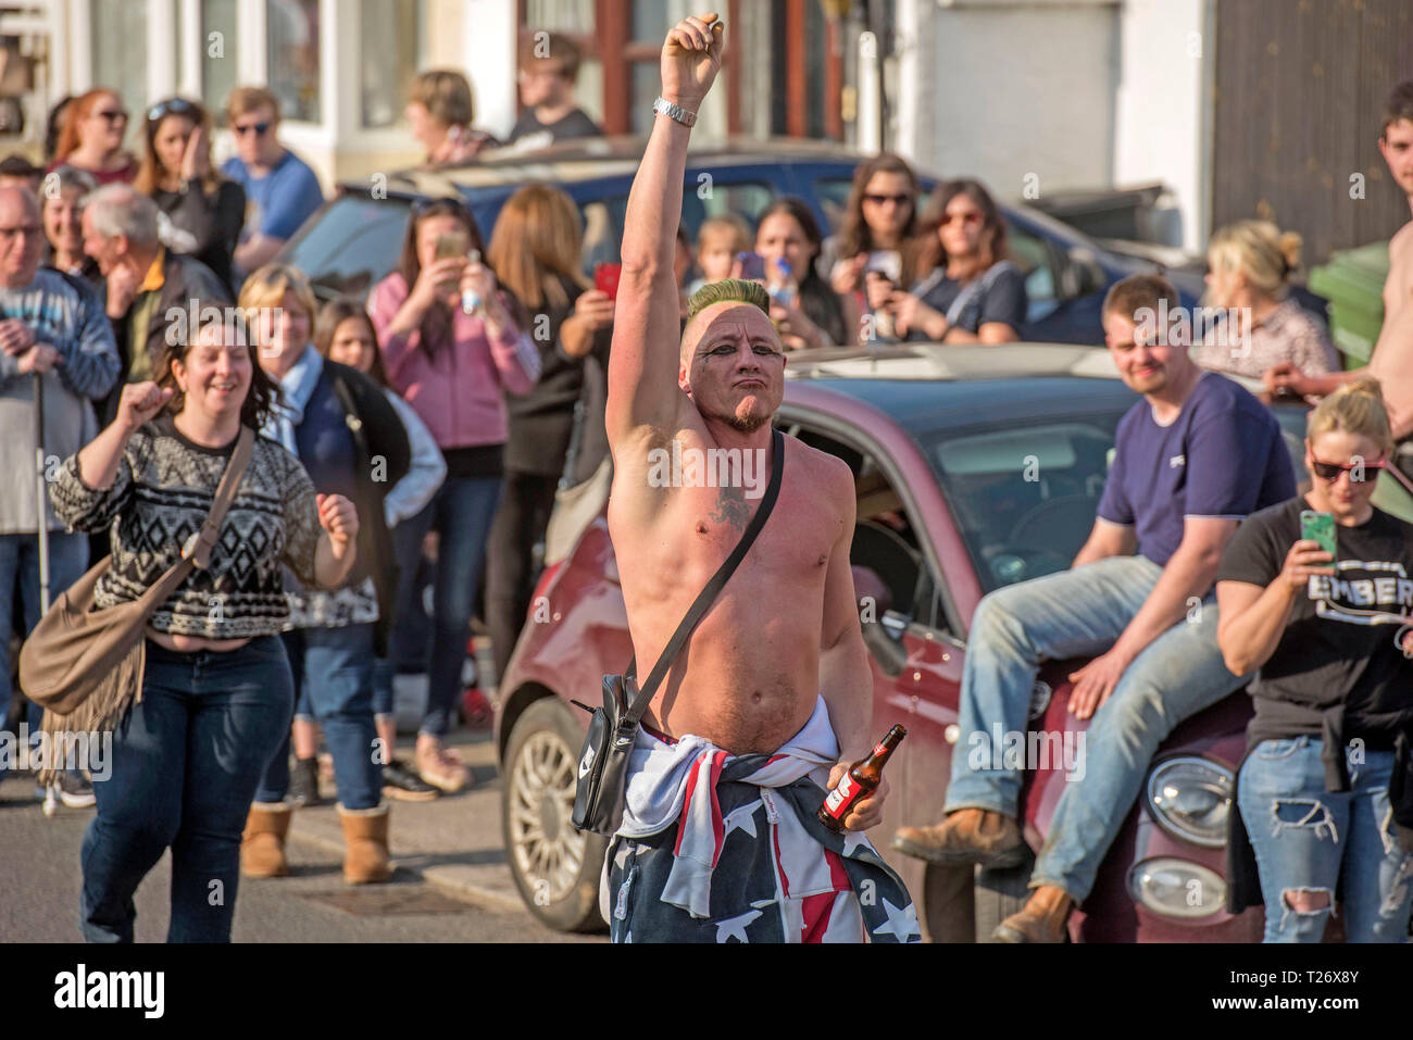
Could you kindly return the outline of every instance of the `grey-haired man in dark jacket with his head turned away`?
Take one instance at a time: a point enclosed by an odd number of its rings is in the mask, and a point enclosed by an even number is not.
[[[157,203],[126,184],[110,184],[83,205],[83,252],[107,283],[105,308],[122,358],[122,377],[105,403],[110,422],[124,383],[155,379],[168,333],[182,335],[194,308],[232,304],[216,274],[157,239]],[[177,328],[172,328],[177,326]]]

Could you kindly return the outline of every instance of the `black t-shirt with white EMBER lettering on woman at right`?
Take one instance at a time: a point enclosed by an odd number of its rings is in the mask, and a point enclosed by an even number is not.
[[[1249,516],[1222,555],[1218,581],[1270,585],[1300,540],[1294,497]],[[1335,524],[1332,577],[1311,575],[1276,651],[1251,687],[1256,718],[1248,743],[1318,736],[1321,714],[1345,705],[1345,739],[1389,749],[1413,714],[1413,663],[1395,646],[1413,615],[1413,526],[1375,509],[1356,527]]]

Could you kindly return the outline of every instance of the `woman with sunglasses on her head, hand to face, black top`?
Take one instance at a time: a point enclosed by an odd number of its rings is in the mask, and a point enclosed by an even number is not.
[[[246,219],[246,192],[211,165],[211,117],[185,98],[147,110],[147,148],[133,187],[150,195],[172,226],[187,232],[187,249],[236,290],[230,257]]]

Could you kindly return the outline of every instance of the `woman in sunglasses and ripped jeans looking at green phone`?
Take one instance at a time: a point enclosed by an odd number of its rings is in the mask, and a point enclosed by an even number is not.
[[[1337,890],[1348,941],[1407,941],[1413,526],[1369,502],[1392,447],[1375,380],[1330,394],[1308,420],[1310,492],[1253,513],[1222,557],[1222,657],[1259,668],[1228,910],[1265,902],[1266,942],[1320,942]],[[1332,554],[1304,537],[1307,510],[1332,519]]]

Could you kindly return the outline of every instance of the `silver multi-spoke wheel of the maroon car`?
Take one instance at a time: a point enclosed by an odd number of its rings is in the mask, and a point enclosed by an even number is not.
[[[602,930],[599,873],[608,838],[574,829],[584,731],[554,697],[516,721],[506,748],[502,828],[510,873],[536,917],[558,931]]]

